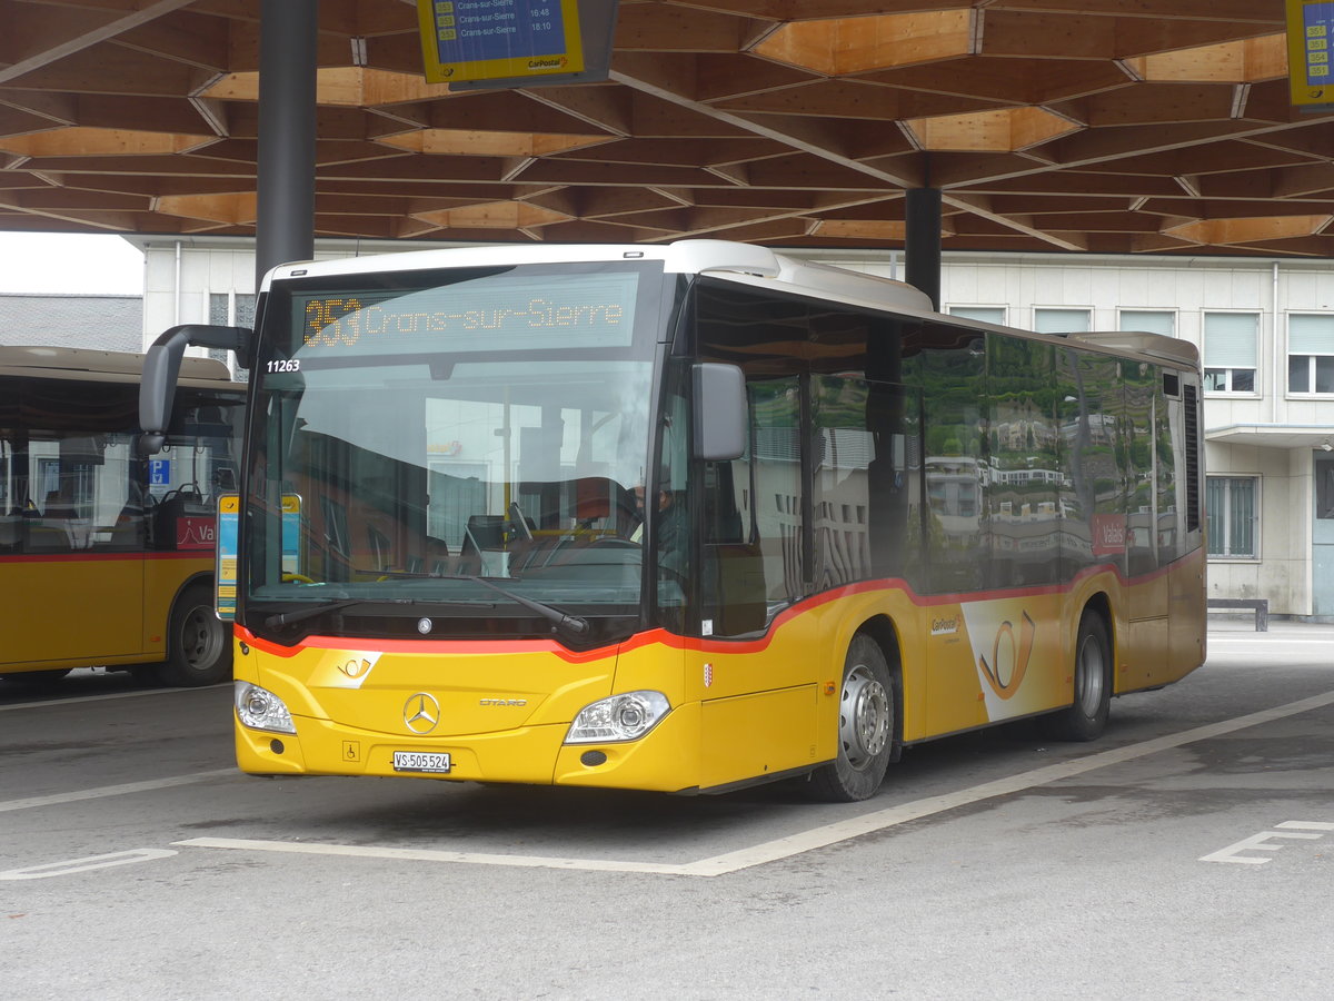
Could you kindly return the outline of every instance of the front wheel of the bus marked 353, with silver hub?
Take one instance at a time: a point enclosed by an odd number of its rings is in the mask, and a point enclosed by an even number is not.
[[[880,645],[858,633],[843,659],[838,755],[811,773],[810,791],[830,802],[875,795],[894,754],[894,678]]]

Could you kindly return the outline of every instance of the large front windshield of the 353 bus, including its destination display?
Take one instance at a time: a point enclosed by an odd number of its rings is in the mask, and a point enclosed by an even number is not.
[[[448,637],[504,618],[546,635],[568,617],[598,623],[590,639],[634,627],[656,268],[275,290],[256,366],[248,623],[309,631],[327,613],[343,633]]]

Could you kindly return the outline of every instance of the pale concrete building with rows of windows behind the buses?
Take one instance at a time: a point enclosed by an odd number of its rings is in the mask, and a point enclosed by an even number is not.
[[[253,315],[247,238],[129,238],[147,258],[144,340]],[[426,243],[317,240],[316,258]],[[902,255],[787,251],[902,278]],[[1323,260],[946,252],[943,311],[1059,332],[1149,330],[1201,346],[1209,594],[1334,621],[1334,271]]]

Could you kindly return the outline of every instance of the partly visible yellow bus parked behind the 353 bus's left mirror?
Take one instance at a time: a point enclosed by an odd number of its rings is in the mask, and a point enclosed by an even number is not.
[[[235,488],[244,387],[184,359],[167,446],[136,452],[143,356],[0,347],[0,677],[75,667],[209,685],[231,670],[212,607],[211,494]]]

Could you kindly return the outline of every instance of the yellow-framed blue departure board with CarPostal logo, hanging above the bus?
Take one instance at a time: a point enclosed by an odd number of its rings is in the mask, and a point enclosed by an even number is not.
[[[428,83],[584,68],[578,0],[418,0]]]

